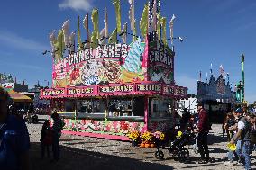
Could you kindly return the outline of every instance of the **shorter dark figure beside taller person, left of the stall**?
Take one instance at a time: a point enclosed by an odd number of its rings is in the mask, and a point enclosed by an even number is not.
[[[52,132],[50,130],[50,122],[44,121],[41,128],[41,158],[44,157],[45,149],[47,151],[47,157],[50,157],[49,147],[52,144]]]

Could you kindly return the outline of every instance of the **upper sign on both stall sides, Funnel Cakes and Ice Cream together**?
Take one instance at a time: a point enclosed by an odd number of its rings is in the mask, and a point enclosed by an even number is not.
[[[83,49],[53,66],[54,87],[153,81],[173,84],[173,54],[159,41],[108,44]],[[148,48],[150,47],[150,48]]]

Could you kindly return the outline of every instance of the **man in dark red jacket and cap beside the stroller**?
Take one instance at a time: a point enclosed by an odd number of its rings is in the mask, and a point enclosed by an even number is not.
[[[206,164],[209,161],[209,149],[207,143],[207,136],[209,132],[209,117],[206,110],[203,108],[202,102],[197,103],[197,112],[199,114],[199,121],[196,130],[198,133],[197,145],[201,155],[201,160],[199,163]]]

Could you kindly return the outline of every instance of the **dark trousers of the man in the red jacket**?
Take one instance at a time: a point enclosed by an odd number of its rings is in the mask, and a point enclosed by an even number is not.
[[[208,132],[199,132],[197,137],[197,146],[198,146],[199,153],[201,155],[201,158],[206,161],[209,160],[209,148],[207,144],[207,135],[208,135]]]

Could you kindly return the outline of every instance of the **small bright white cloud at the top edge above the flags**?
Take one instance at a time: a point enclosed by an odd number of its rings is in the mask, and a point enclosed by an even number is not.
[[[93,6],[93,0],[64,0],[59,4],[60,9],[71,8],[75,11],[90,11]]]

